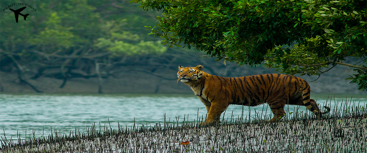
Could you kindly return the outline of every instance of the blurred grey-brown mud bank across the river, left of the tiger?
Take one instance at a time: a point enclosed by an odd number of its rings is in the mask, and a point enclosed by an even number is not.
[[[15,74],[0,72],[2,93],[36,93],[29,85],[20,82]],[[139,78],[139,79],[137,79]],[[63,80],[50,77],[28,79],[43,93],[85,93],[93,94],[98,91],[97,78],[73,78],[66,82],[63,88],[59,86]],[[147,76],[143,72],[136,72],[121,76],[119,79],[102,79],[102,93],[191,93],[190,88],[177,84],[175,79],[160,79],[157,76]]]

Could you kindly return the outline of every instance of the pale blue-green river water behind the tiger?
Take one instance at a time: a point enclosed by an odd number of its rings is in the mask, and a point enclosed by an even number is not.
[[[327,96],[315,97],[317,103],[325,105]],[[330,99],[330,98],[329,98]],[[350,101],[349,97],[332,98],[326,105],[333,111],[341,108],[341,102]],[[335,103],[334,102],[335,99]],[[355,105],[366,107],[367,98],[353,98]],[[338,104],[335,106],[335,104]],[[321,109],[321,107],[320,107]],[[285,110],[289,112],[304,111],[304,106],[286,105]],[[321,109],[324,111],[324,109]],[[233,113],[232,113],[233,112]],[[243,114],[242,114],[243,112]],[[118,125],[131,128],[135,125],[155,125],[166,121],[171,123],[177,120],[182,123],[186,121],[197,121],[205,119],[206,108],[195,96],[188,95],[9,95],[0,94],[0,136],[17,140],[17,134],[25,139],[25,134],[36,138],[48,136],[51,129],[64,134],[69,134],[75,129],[86,132],[87,128],[95,124],[99,127],[118,129]],[[256,107],[242,107],[230,105],[226,110],[224,119],[237,119],[248,114],[262,115],[270,119],[270,108],[268,105]]]

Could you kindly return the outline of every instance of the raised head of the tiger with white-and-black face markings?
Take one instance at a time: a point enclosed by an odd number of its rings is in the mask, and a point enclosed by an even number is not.
[[[200,77],[203,76],[203,65],[197,65],[194,67],[183,67],[181,65],[178,66],[179,71],[177,72],[178,80],[183,83],[188,83],[190,81],[196,82],[200,80]],[[177,81],[178,81],[177,80]]]

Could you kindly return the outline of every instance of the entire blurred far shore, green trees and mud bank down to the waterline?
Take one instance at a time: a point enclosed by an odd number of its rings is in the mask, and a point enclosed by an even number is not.
[[[14,12],[27,4],[21,13]],[[12,6],[14,4],[14,6]],[[278,73],[201,57],[193,48],[168,48],[144,26],[155,26],[159,11],[127,1],[0,1],[1,93],[192,93],[177,83],[178,65],[204,65],[224,77]],[[353,61],[349,61],[352,62]],[[345,80],[355,72],[335,66],[318,76],[301,76],[313,93],[364,94]],[[317,80],[315,80],[317,79]]]

